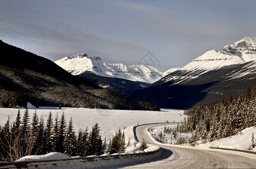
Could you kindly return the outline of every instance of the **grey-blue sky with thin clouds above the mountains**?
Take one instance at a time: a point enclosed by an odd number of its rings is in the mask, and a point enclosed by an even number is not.
[[[1,0],[0,39],[52,61],[86,53],[162,72],[256,37],[256,1]]]

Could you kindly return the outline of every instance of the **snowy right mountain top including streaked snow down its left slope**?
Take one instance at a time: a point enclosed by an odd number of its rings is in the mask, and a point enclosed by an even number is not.
[[[175,80],[176,84],[183,83],[197,78],[210,70],[221,69],[224,66],[245,64],[249,61],[256,61],[256,38],[245,37],[232,45],[224,46],[219,51],[207,51],[192,60],[180,69],[186,74],[164,77],[161,81]]]

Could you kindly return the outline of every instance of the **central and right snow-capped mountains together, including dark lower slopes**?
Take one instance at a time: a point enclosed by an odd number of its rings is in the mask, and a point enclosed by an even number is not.
[[[131,99],[187,109],[245,94],[245,88],[256,82],[255,60],[256,38],[245,37],[164,73],[148,65],[105,64],[100,57],[86,54],[66,56],[56,64]]]

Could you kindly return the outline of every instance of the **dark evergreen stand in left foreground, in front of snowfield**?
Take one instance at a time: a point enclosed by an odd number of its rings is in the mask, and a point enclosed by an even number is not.
[[[25,155],[42,155],[50,152],[65,153],[70,156],[101,155],[106,149],[100,136],[100,128],[96,123],[91,131],[79,130],[75,134],[72,118],[67,124],[65,114],[55,119],[50,112],[46,125],[44,118],[33,113],[29,121],[28,109],[23,117],[20,111],[15,122],[0,127],[0,161],[16,161]]]

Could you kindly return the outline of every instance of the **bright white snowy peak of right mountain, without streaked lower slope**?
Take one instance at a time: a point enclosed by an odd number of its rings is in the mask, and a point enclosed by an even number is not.
[[[256,38],[245,37],[232,45],[224,46],[219,51],[205,52],[185,65],[182,70],[211,70],[253,60],[256,60]]]

